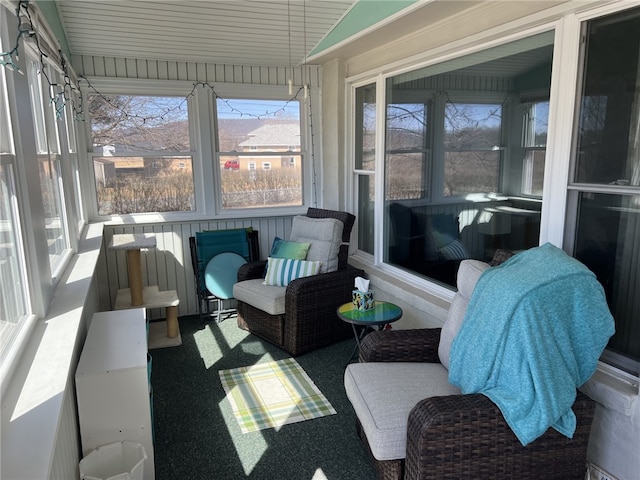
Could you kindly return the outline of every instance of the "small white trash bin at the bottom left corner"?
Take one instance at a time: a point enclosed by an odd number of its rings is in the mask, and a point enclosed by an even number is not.
[[[142,480],[147,452],[139,443],[116,442],[92,450],[80,460],[82,480]]]

